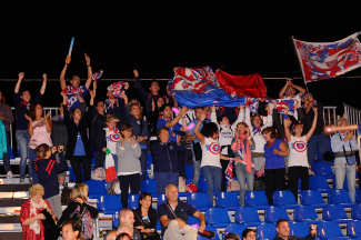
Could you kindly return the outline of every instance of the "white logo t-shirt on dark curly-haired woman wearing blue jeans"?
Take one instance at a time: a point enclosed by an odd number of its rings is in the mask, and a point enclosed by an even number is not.
[[[202,162],[201,168],[204,166],[213,166],[218,168],[222,168],[221,166],[221,144],[219,141],[213,140],[211,138],[205,138],[204,144],[202,147]]]

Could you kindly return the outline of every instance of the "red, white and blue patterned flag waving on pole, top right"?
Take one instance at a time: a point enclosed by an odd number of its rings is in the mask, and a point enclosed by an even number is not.
[[[335,42],[293,39],[305,82],[334,78],[361,67],[360,32]]]

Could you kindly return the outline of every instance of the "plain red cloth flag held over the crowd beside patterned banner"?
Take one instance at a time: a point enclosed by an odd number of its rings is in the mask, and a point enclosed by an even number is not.
[[[222,70],[215,71],[218,83],[232,97],[265,98],[267,90],[263,79],[258,73],[231,76]]]

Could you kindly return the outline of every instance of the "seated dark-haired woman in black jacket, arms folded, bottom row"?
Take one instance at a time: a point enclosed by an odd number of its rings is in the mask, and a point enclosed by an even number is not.
[[[139,197],[139,208],[133,210],[134,229],[137,229],[144,239],[160,239],[157,227],[157,211],[152,208],[152,196],[143,192]]]

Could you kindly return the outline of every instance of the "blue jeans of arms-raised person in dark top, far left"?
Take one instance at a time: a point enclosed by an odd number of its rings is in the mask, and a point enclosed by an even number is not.
[[[20,151],[20,179],[26,178],[26,170],[27,170],[27,163],[28,163],[28,149],[29,149],[29,141],[30,136],[28,131],[26,130],[17,130],[16,132],[18,148]],[[29,178],[32,178],[32,168],[29,164]]]

